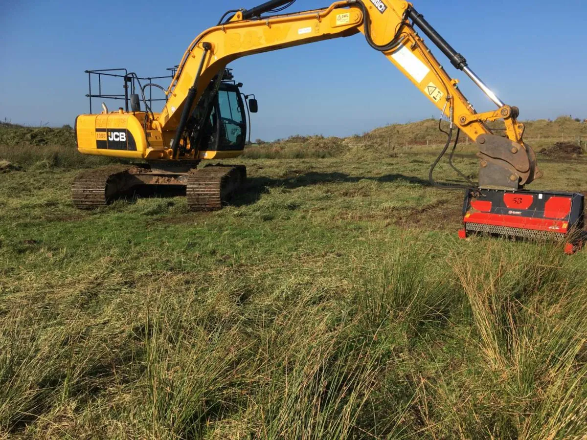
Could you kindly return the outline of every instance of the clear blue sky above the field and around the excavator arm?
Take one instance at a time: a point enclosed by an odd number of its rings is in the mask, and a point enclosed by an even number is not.
[[[86,69],[158,76],[227,9],[264,0],[2,2],[0,119],[51,126],[87,113]],[[297,0],[290,9],[325,6]],[[587,118],[587,2],[414,0],[521,119]],[[438,57],[478,111],[493,104]],[[437,116],[436,108],[362,35],[245,57],[231,67],[255,93],[253,138],[348,136]],[[99,104],[99,103],[97,103]]]

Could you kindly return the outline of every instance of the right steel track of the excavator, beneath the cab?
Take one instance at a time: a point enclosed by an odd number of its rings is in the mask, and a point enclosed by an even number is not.
[[[200,168],[188,176],[187,204],[190,211],[218,211],[247,180],[243,165]]]

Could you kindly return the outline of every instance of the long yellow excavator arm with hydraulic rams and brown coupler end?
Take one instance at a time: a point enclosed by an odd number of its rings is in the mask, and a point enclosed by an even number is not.
[[[152,128],[163,132],[177,157],[186,138],[187,121],[214,78],[235,59],[256,53],[305,45],[322,40],[363,33],[367,43],[382,52],[448,118],[479,147],[479,187],[518,189],[541,177],[532,148],[524,143],[524,126],[518,123],[519,110],[505,105],[468,67],[467,60],[403,0],[346,0],[328,8],[284,15],[263,13],[289,3],[269,1],[250,11],[238,11],[197,36],[184,53],[177,73],[167,90],[168,101],[153,121]],[[431,53],[424,33],[450,60],[470,77],[495,103],[497,110],[477,113]],[[503,120],[505,135],[492,133],[487,123]],[[173,136],[173,138],[172,138]],[[450,143],[450,137],[447,141]],[[167,139],[166,139],[167,140]]]

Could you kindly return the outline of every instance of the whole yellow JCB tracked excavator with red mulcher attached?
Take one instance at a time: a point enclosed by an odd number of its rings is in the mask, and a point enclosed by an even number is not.
[[[467,191],[463,235],[477,231],[566,235],[571,226],[581,226],[578,218],[583,199],[579,195],[534,194],[523,189],[542,174],[534,151],[524,143],[524,125],[517,120],[519,110],[498,98],[413,4],[404,0],[344,0],[322,9],[283,12],[294,2],[271,0],[251,9],[228,11],[216,26],[198,35],[173,69],[171,84],[163,89],[163,109],[158,113],[151,110],[153,101],[146,96],[146,87],[153,83],[140,86],[139,82],[136,90],[134,82],[139,77],[124,71],[125,94],[119,99],[125,101],[126,107],[110,112],[103,104],[100,114],[78,116],[77,148],[82,154],[137,159],[144,165],[80,175],[72,188],[76,207],[99,207],[136,185],[168,184],[186,187],[188,207],[193,211],[221,209],[245,181],[245,167],[198,165],[203,160],[242,154],[247,141],[245,112],[258,110],[257,100],[248,100],[241,93],[242,84],[232,78],[227,69],[230,62],[362,33],[367,45],[389,59],[450,123],[445,148],[430,170],[433,184],[434,168],[450,148],[455,131],[457,140],[463,131],[477,143],[478,184],[462,173],[462,186],[436,184]],[[477,84],[497,109],[477,113],[460,92],[458,80],[448,75],[416,29]],[[139,93],[129,94],[127,83],[133,84],[131,92]],[[90,106],[91,100],[90,91]],[[494,134],[487,125],[498,120],[504,123],[505,130],[500,133],[505,136]],[[454,167],[452,155],[450,164]],[[548,209],[545,205],[551,198],[556,206]],[[567,202],[560,199],[569,201],[568,210]],[[547,218],[545,212],[556,215]]]

